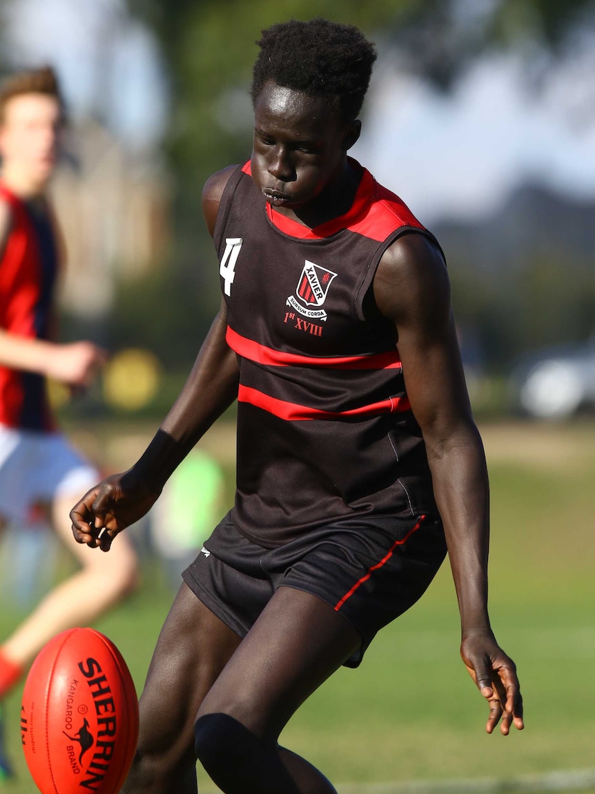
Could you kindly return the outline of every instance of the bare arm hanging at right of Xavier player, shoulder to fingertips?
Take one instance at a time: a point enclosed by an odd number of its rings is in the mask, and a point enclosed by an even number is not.
[[[461,615],[461,654],[489,700],[487,730],[523,726],[514,663],[497,646],[487,607],[489,487],[466,392],[443,259],[420,234],[382,257],[374,297],[397,330],[407,394],[420,424],[443,519]],[[503,712],[504,710],[504,712]]]

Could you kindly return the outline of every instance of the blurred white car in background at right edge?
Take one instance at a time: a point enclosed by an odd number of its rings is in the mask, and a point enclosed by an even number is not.
[[[536,418],[558,419],[595,407],[595,340],[526,357],[512,374],[517,407]]]

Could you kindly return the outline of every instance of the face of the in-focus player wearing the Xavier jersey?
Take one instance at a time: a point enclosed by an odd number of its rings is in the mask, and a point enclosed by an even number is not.
[[[252,179],[278,210],[298,210],[340,179],[359,133],[324,98],[271,82],[255,101],[254,122]]]

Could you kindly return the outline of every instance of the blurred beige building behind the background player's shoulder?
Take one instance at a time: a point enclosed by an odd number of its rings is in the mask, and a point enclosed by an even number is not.
[[[52,183],[67,268],[60,298],[75,314],[100,318],[117,279],[163,262],[170,183],[155,152],[131,152],[98,124],[71,130]]]

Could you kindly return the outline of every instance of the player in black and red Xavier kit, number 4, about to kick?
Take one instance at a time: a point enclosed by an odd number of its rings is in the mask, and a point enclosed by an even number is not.
[[[126,792],[195,792],[197,757],[227,794],[334,792],[278,735],[447,549],[487,730],[523,727],[489,625],[488,480],[443,255],[347,156],[374,47],[322,19],[259,44],[251,160],[203,193],[221,310],[140,461],[71,512],[77,540],[108,550],[238,400],[236,501],[163,626]]]

